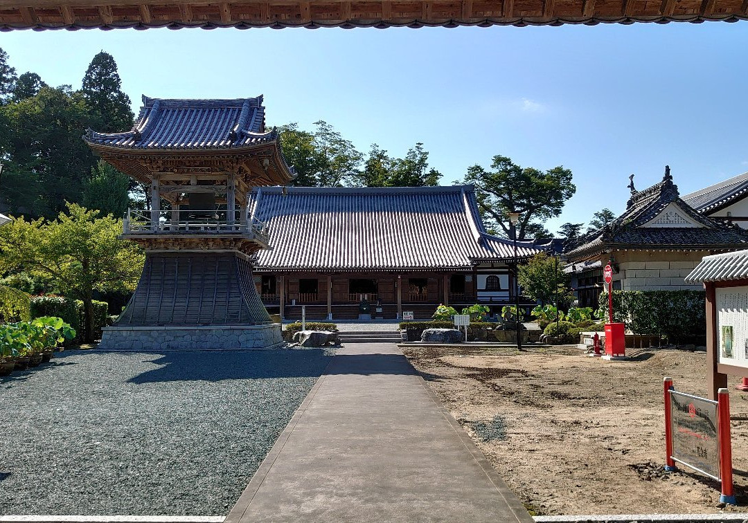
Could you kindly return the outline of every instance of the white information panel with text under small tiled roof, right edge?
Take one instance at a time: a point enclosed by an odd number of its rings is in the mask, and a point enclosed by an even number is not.
[[[716,288],[717,361],[748,367],[748,287]]]

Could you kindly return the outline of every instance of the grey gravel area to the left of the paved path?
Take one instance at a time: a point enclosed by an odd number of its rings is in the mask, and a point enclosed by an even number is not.
[[[71,351],[0,378],[0,514],[223,516],[330,358]]]

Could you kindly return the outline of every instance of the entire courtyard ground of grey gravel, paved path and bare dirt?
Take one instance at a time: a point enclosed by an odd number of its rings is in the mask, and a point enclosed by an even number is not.
[[[723,507],[713,481],[663,471],[662,378],[705,394],[705,353],[630,355],[394,343],[65,351],[0,380],[0,513],[237,523],[745,512],[748,394],[731,380],[738,507]]]

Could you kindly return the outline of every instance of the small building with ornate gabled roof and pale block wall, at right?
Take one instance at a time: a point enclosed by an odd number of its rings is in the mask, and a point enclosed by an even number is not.
[[[568,262],[584,279],[584,270],[600,270],[612,262],[613,288],[625,291],[699,289],[684,282],[703,256],[748,247],[744,229],[700,214],[678,193],[669,167],[662,182],[643,191],[630,185],[626,211],[610,226],[596,232],[565,253]],[[600,277],[597,276],[596,277]],[[597,289],[584,305],[596,303]]]

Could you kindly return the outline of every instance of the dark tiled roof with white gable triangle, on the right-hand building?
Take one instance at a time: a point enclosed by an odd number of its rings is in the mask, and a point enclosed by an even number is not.
[[[643,227],[668,205],[675,204],[698,227]],[[669,168],[663,181],[643,191],[632,191],[626,211],[610,226],[586,238],[580,247],[566,253],[568,259],[595,256],[608,247],[735,249],[748,246],[748,232],[738,226],[713,220],[696,212],[678,194]]]

